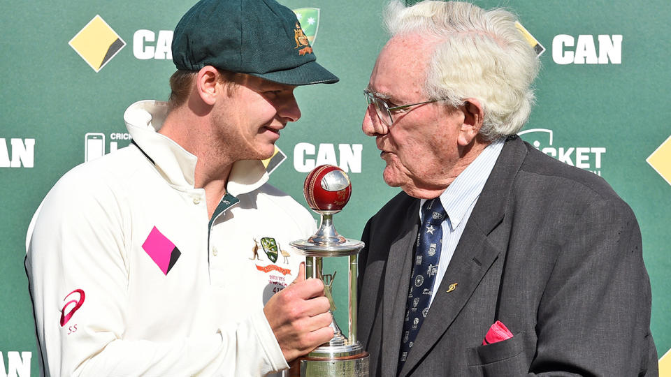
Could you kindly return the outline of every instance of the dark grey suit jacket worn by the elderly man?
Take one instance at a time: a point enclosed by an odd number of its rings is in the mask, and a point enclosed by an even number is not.
[[[397,374],[418,214],[400,193],[363,232],[358,331],[371,376]],[[510,138],[400,376],[656,376],[650,306],[628,205],[593,173]],[[514,337],[482,346],[496,320]]]

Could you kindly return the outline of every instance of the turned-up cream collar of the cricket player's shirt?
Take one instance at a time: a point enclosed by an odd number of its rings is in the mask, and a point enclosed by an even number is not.
[[[194,187],[198,158],[165,135],[161,129],[168,115],[168,103],[138,101],[124,112],[124,121],[138,147],[156,165],[170,184]],[[259,160],[241,160],[233,163],[226,191],[231,195],[248,193],[268,181],[268,173]]]

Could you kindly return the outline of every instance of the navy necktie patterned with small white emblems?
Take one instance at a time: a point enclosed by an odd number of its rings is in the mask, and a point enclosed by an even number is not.
[[[417,253],[412,265],[410,290],[405,304],[405,321],[401,339],[401,351],[398,355],[397,373],[403,368],[407,354],[417,338],[419,327],[428,313],[431,302],[433,282],[438,273],[438,261],[442,247],[442,227],[447,214],[440,204],[440,198],[426,200],[422,207],[422,223],[417,233]]]

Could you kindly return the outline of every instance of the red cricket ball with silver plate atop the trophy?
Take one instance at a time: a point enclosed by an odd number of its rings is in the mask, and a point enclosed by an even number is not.
[[[340,211],[349,201],[352,183],[338,166],[321,165],[305,178],[303,193],[315,211]]]

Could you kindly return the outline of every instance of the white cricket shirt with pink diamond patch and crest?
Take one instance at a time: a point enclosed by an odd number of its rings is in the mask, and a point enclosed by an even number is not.
[[[26,267],[46,374],[262,376],[287,368],[263,313],[315,221],[239,161],[210,223],[196,157],[157,133],[167,103],[124,114],[136,145],[79,165],[43,200]],[[141,148],[141,149],[140,149]]]

